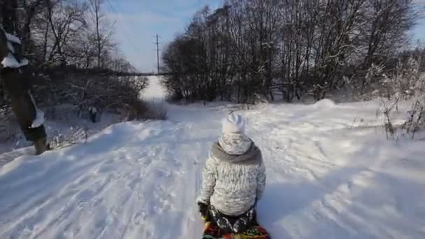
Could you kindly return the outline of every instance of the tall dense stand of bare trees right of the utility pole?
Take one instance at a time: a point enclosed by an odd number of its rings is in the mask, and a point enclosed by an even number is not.
[[[408,43],[412,0],[228,0],[196,13],[162,59],[175,100],[252,103],[257,96],[323,99]]]

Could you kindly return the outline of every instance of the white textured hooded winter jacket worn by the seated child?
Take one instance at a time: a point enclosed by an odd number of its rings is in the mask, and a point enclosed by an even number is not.
[[[240,133],[223,135],[218,147],[224,156],[210,152],[197,201],[211,203],[224,215],[242,215],[261,198],[266,185],[261,151]]]

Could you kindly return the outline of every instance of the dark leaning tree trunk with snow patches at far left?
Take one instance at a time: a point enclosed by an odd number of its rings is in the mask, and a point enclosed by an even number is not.
[[[43,126],[43,115],[37,109],[31,95],[31,68],[28,60],[22,57],[22,41],[17,36],[17,2],[8,0],[2,2],[0,9],[2,22],[0,25],[0,79],[10,95],[13,113],[20,124],[22,133],[27,140],[34,143],[36,154],[48,150],[46,133]]]

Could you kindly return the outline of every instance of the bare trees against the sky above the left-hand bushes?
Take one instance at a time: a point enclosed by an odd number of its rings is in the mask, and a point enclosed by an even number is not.
[[[1,23],[35,67],[133,71],[117,52],[103,0],[1,0]]]

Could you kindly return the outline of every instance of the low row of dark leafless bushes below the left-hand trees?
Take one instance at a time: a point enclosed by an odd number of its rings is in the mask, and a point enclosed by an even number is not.
[[[133,108],[141,115],[144,108],[139,94],[147,84],[146,77],[52,71],[39,78],[34,95],[44,108],[71,104],[77,108],[77,114],[85,118],[89,108],[96,108],[99,114],[122,113]]]

